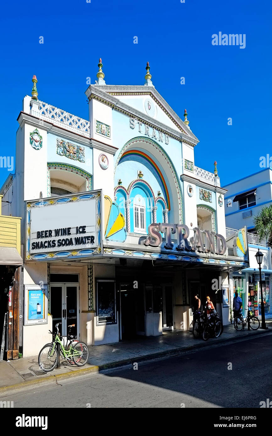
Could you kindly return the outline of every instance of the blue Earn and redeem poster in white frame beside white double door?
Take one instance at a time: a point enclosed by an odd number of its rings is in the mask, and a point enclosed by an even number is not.
[[[47,324],[47,285],[24,286],[24,325]]]

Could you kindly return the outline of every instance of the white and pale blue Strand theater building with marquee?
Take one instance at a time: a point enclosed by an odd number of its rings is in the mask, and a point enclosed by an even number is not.
[[[189,330],[196,293],[228,324],[221,281],[249,266],[246,229],[226,244],[226,190],[216,162],[196,167],[186,110],[182,121],[149,65],[142,86],[106,85],[98,66],[89,120],[39,101],[35,76],[18,116],[0,193],[23,217],[24,356],[58,321],[90,345]]]

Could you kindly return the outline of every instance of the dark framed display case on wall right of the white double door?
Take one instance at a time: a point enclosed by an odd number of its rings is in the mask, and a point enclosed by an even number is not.
[[[116,298],[114,280],[97,280],[98,324],[116,324]]]

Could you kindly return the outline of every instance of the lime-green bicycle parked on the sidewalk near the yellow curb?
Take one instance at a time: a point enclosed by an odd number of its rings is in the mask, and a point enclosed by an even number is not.
[[[62,341],[58,335],[59,324],[56,324],[57,333],[54,334],[49,330],[49,333],[53,335],[51,344],[45,344],[39,352],[38,363],[42,371],[50,372],[56,367],[58,363],[59,353],[57,344],[59,343],[60,355],[64,360],[74,362],[77,366],[84,366],[89,358],[89,350],[85,342],[73,342],[71,341],[68,349],[63,347]],[[67,346],[66,346],[67,348]]]

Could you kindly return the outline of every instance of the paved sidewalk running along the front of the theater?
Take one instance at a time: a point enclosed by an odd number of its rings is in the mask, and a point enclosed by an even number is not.
[[[89,361],[83,368],[69,364],[67,361],[61,361],[61,367],[49,373],[44,373],[39,368],[38,356],[9,362],[3,361],[0,362],[0,395],[4,395],[10,389],[37,386],[41,381],[55,383],[55,376],[59,381],[73,375],[99,372],[109,368],[133,364],[134,362],[140,364],[144,361],[170,357],[186,351],[210,347],[211,345],[241,341],[243,338],[271,333],[272,324],[268,323],[268,327],[268,330],[248,331],[244,329],[236,331],[233,324],[230,324],[224,326],[224,332],[219,338],[210,338],[208,341],[195,339],[189,331],[174,330],[163,332],[162,336],[142,336],[115,344],[89,346]]]

